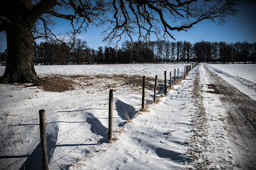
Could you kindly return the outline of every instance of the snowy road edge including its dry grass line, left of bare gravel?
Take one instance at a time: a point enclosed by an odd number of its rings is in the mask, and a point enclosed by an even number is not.
[[[214,82],[204,65],[199,66],[198,78],[198,86],[201,86],[198,88],[200,89],[198,98],[201,98],[199,102],[202,102],[200,109],[204,111],[202,118],[198,114],[200,112],[196,112],[196,120],[194,120],[195,125],[199,127],[193,128],[193,130],[198,130],[196,132],[198,135],[194,139],[196,142],[192,143],[191,146],[198,151],[195,167],[200,169],[232,169],[235,166],[230,145],[219,116],[225,115],[225,109],[221,105],[220,96],[212,89]],[[197,125],[198,123],[200,124]]]

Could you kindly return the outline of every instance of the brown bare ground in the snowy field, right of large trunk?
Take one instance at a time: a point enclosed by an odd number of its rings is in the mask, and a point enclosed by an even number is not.
[[[146,86],[148,90],[154,90],[154,78],[146,77]],[[41,82],[44,91],[63,92],[74,89],[113,89],[118,86],[124,86],[132,91],[141,91],[141,75],[47,75]],[[158,88],[159,89],[159,88]],[[90,93],[88,91],[88,93]]]

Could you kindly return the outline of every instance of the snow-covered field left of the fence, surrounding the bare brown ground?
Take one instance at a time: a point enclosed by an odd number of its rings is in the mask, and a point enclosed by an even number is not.
[[[26,159],[26,169],[29,167],[40,169],[40,148],[37,147],[40,142],[38,127],[40,109],[45,109],[46,113],[51,169],[67,168],[80,158],[105,150],[105,146],[102,145],[108,138],[109,84],[115,84],[113,86],[115,138],[118,138],[119,132],[123,130],[122,127],[141,109],[141,87],[133,87],[132,84],[121,86],[122,82],[113,81],[111,77],[120,74],[141,75],[142,78],[145,75],[147,79],[158,75],[159,79],[163,80],[165,70],[170,77],[169,73],[173,73],[177,68],[179,68],[179,76],[183,77],[184,65],[35,66],[39,77],[84,75],[92,78],[102,74],[109,76],[90,79],[89,81],[93,82],[91,86],[76,87],[72,91],[63,93],[44,91],[37,87],[25,88],[20,84],[0,84],[1,169],[19,169]],[[4,67],[1,66],[0,70],[0,75],[3,75]],[[159,86],[163,87],[163,83]],[[153,91],[146,92],[146,102],[152,101]],[[158,97],[160,95],[161,93],[157,93]],[[182,128],[176,126],[176,123],[178,122],[166,123],[163,133],[172,134],[178,128]],[[185,133],[189,136],[187,131],[189,128]],[[182,153],[184,151],[186,150]]]

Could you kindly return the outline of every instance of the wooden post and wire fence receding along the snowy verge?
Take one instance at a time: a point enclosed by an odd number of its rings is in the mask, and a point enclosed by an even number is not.
[[[164,91],[164,95],[167,95],[168,90],[170,90],[172,88],[172,84],[178,84],[179,81],[181,81],[182,79],[185,79],[186,76],[188,75],[189,71],[194,68],[195,66],[197,66],[197,64],[193,63],[192,65],[186,65],[184,66],[184,77],[180,78],[179,77],[179,68],[174,69],[174,76],[172,77],[172,72],[170,72],[170,85],[168,87],[167,84],[167,72],[164,71],[164,89],[162,89]],[[177,73],[177,76],[176,76]],[[147,104],[145,104],[145,79],[146,77],[143,76],[143,83],[142,83],[142,97],[141,97],[141,111],[145,111],[145,106]],[[154,84],[154,96],[153,96],[153,103],[156,103],[157,100],[157,75],[155,78],[155,84]],[[127,100],[130,100],[130,98],[128,98]],[[125,101],[124,101],[125,102]],[[116,110],[118,110],[118,108],[116,108]],[[100,141],[99,143],[104,143],[104,142],[108,142],[111,143],[113,141],[113,89],[109,90],[109,109],[98,114],[97,116],[93,116],[91,115],[92,118],[88,118],[86,121],[81,122],[81,124],[77,125],[76,127],[70,128],[69,130],[67,130],[66,132],[63,132],[61,134],[58,134],[57,138],[66,135],[74,130],[77,130],[77,128],[81,127],[82,125],[84,125],[84,123],[90,123],[92,121],[97,121],[97,118],[99,118],[99,116],[106,114],[107,112],[109,112],[109,116],[108,116],[108,126],[106,125],[102,125],[101,122],[99,122],[98,125],[99,127],[97,127],[97,129],[95,129],[95,134],[90,136],[89,138],[84,139],[84,141],[80,144],[77,144],[76,147],[72,148],[71,150],[67,151],[67,153],[65,153],[64,155],[62,155],[61,157],[57,158],[54,161],[49,162],[48,160],[48,151],[47,151],[47,139],[46,139],[46,128],[45,128],[45,111],[44,110],[40,110],[39,114],[40,114],[40,139],[41,139],[41,150],[42,150],[42,168],[41,169],[49,169],[49,165],[51,164],[58,164],[58,160],[61,160],[62,158],[66,157],[68,155],[68,153],[71,153],[72,151],[77,150],[77,148],[79,148],[80,146],[83,146],[84,143],[86,143],[88,140],[92,139],[93,137],[95,137],[96,135],[101,135],[103,137],[102,141]],[[127,120],[131,120],[132,118],[129,115],[127,116]],[[133,115],[134,117],[135,115]],[[98,120],[99,121],[99,120]],[[97,123],[96,123],[97,124]],[[108,128],[106,128],[108,127]],[[104,136],[108,136],[108,137],[104,137]],[[68,136],[70,137],[70,136]],[[67,139],[68,137],[65,137],[65,139]],[[108,138],[108,139],[106,139]],[[63,139],[62,141],[64,141],[65,139]],[[58,164],[58,166],[61,168],[61,166]],[[6,167],[5,167],[6,168]]]

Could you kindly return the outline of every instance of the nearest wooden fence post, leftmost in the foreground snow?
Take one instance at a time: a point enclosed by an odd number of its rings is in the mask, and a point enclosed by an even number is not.
[[[40,128],[40,139],[41,139],[41,150],[42,150],[42,168],[43,170],[49,170],[44,110],[39,111],[39,119],[40,119],[39,128]]]

